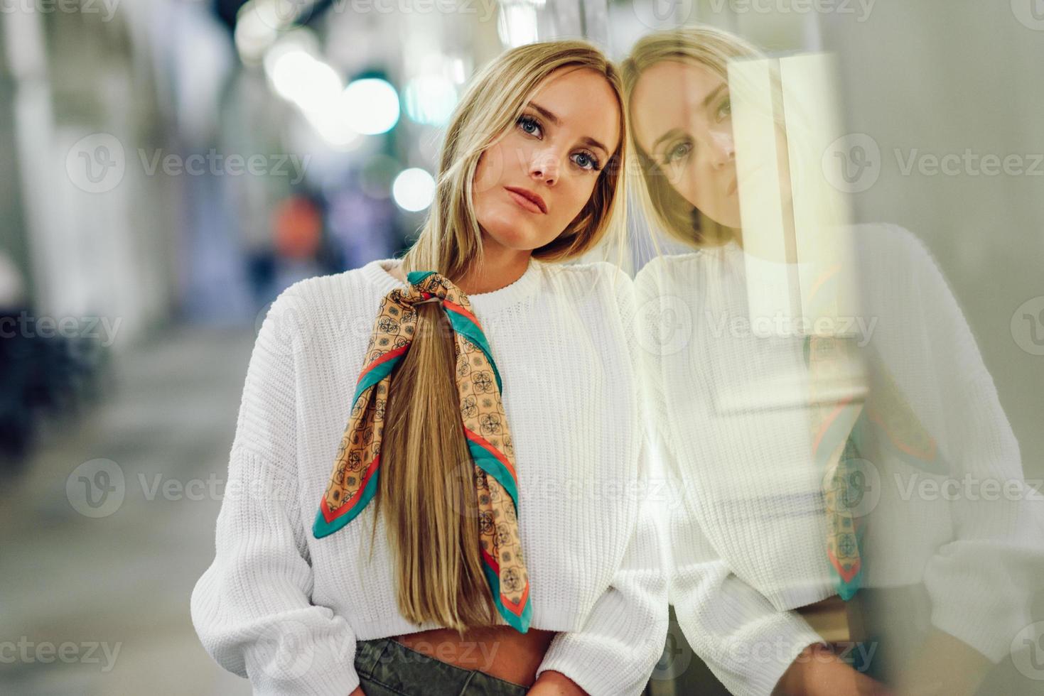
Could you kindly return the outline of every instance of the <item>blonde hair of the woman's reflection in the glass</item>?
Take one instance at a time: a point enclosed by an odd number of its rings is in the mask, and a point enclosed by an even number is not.
[[[764,57],[754,44],[713,26],[692,25],[655,31],[639,39],[620,66],[625,103],[630,109],[638,79],[662,61],[698,63],[728,82],[730,61]],[[641,176],[636,177],[636,194],[648,219],[657,222],[668,237],[688,246],[720,246],[731,241],[730,230],[694,209],[673,189],[656,160],[642,150],[634,135],[633,120],[628,135],[630,147],[641,170]]]

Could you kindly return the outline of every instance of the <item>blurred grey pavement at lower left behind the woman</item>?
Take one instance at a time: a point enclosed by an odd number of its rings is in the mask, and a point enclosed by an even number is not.
[[[188,610],[219,495],[181,490],[223,480],[253,342],[250,330],[183,329],[120,357],[109,395],[53,425],[3,482],[0,693],[251,693],[204,651]],[[125,491],[101,518],[74,509],[66,487],[96,458],[118,465]]]

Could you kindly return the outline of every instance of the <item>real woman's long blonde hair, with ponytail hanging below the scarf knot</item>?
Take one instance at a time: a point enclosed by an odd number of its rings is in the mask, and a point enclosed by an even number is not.
[[[567,66],[594,70],[612,87],[620,111],[619,146],[580,213],[532,256],[564,262],[609,235],[622,236],[626,116],[619,74],[588,42],[529,44],[485,66],[462,95],[447,128],[427,221],[403,256],[404,273],[435,270],[456,282],[482,262],[473,206],[479,157],[509,133],[541,80]],[[437,303],[418,305],[416,311],[416,335],[393,374],[385,402],[377,514],[383,509],[398,561],[402,615],[462,633],[470,626],[495,624],[496,606],[479,556],[475,480],[460,427],[453,330]],[[374,521],[376,529],[376,515]]]

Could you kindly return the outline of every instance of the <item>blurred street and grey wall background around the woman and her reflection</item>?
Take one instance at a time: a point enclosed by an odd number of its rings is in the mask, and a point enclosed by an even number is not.
[[[188,602],[268,305],[409,243],[504,48],[694,22],[836,56],[856,219],[931,249],[1040,488],[1039,0],[0,0],[0,692],[250,693]],[[672,624],[650,692],[714,689]]]

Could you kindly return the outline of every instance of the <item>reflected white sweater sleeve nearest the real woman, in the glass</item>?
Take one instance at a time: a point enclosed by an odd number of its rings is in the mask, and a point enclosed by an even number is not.
[[[656,459],[671,496],[665,513],[669,600],[689,646],[726,689],[738,696],[765,696],[806,646],[826,642],[797,611],[777,609],[737,577],[703,531],[695,513],[699,491],[688,487],[691,479],[681,469],[664,395],[661,316],[672,311],[677,297],[660,290],[658,268],[655,261],[646,266],[636,287]]]

